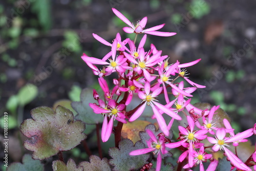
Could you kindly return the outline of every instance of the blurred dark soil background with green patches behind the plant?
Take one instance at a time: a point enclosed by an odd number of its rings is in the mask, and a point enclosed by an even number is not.
[[[80,56],[102,58],[117,32],[131,37],[111,8],[131,22],[148,17],[146,28],[165,23],[172,37],[147,36],[170,63],[201,58],[187,69],[207,88],[195,102],[221,105],[237,131],[256,120],[256,1],[204,0],[6,0],[0,3],[0,118],[9,114],[10,134],[37,106],[79,101],[83,88],[97,88],[97,77]],[[142,35],[139,35],[139,39]],[[2,125],[2,122],[1,122]],[[3,126],[3,125],[2,125]],[[19,160],[19,159],[13,159]]]

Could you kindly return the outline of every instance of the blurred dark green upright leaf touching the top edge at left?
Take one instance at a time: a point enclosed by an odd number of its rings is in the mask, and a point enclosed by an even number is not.
[[[32,12],[37,14],[39,23],[44,30],[49,30],[52,26],[51,1],[34,1]]]

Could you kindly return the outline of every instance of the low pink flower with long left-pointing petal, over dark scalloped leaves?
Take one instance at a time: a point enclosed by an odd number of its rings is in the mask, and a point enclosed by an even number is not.
[[[132,151],[130,155],[136,156],[136,155],[146,154],[154,151],[153,153],[157,154],[156,170],[159,171],[161,169],[161,163],[162,163],[161,154],[168,153],[168,151],[166,151],[165,149],[165,137],[164,135],[160,134],[159,138],[157,139],[151,130],[146,130],[146,133],[151,137],[151,139],[147,141],[148,148],[136,149],[135,151]]]

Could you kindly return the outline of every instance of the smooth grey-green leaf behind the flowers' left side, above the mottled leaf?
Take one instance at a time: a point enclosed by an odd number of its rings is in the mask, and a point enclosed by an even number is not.
[[[71,103],[72,108],[78,113],[76,118],[88,124],[101,123],[103,121],[102,115],[95,114],[93,109],[89,106],[89,103],[95,101],[93,98],[93,90],[89,88],[83,89],[80,99],[80,102],[73,101]]]

